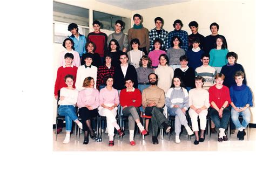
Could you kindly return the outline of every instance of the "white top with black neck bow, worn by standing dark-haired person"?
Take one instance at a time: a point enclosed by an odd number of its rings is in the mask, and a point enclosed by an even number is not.
[[[76,89],[78,91],[81,91],[84,89],[83,87],[83,83],[84,83],[84,79],[87,77],[92,77],[95,81],[95,85],[94,88],[96,88],[96,81],[97,81],[97,71],[98,68],[96,66],[91,66],[85,68],[85,66],[79,66],[77,69],[77,79],[76,79]]]

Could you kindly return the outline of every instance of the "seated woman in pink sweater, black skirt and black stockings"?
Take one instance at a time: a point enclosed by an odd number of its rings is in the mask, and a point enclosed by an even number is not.
[[[92,77],[84,79],[83,89],[78,94],[77,106],[79,108],[79,116],[82,119],[84,131],[84,144],[89,143],[88,131],[90,131],[91,139],[95,139],[96,135],[91,127],[91,118],[97,117],[99,106],[99,91],[93,88],[95,81]]]

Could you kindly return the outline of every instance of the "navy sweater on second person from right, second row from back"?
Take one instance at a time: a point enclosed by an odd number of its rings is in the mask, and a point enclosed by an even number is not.
[[[192,67],[193,70],[196,70],[197,67],[200,67],[203,65],[201,61],[201,56],[204,53],[203,50],[200,50],[198,52],[194,52],[192,50],[187,51],[187,57],[188,57],[188,67]]]

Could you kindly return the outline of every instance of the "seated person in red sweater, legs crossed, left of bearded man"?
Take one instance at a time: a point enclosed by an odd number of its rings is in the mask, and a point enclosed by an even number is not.
[[[136,144],[133,138],[135,127],[134,122],[137,123],[137,126],[143,135],[147,134],[147,131],[139,120],[139,107],[142,105],[142,94],[139,89],[133,87],[133,81],[130,78],[125,79],[125,86],[126,88],[120,92],[120,105],[123,107],[123,115],[128,116],[130,144],[131,146],[134,146]]]

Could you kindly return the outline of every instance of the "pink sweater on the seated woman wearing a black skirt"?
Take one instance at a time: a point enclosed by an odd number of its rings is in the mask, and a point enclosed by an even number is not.
[[[95,88],[86,87],[78,94],[77,99],[78,108],[85,106],[91,106],[93,109],[96,109],[99,106],[99,91]]]

